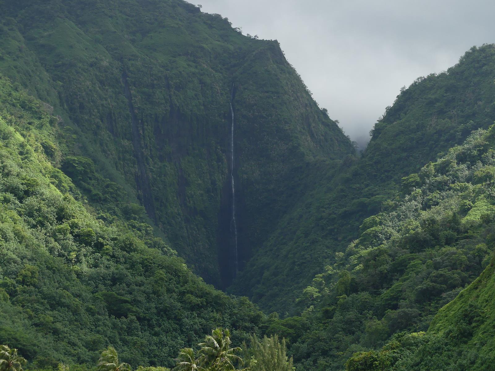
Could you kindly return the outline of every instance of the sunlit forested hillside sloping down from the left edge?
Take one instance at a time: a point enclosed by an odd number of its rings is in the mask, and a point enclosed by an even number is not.
[[[134,367],[172,366],[211,328],[228,326],[237,344],[256,332],[262,313],[195,276],[142,206],[116,215],[89,206],[56,168],[58,146],[79,137],[50,112],[0,77],[0,343],[31,369],[93,367],[108,344]],[[81,181],[125,204],[88,159],[71,161]]]

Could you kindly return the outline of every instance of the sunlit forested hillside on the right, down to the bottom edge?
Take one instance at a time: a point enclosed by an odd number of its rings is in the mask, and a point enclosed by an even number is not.
[[[493,360],[494,186],[493,126],[404,177],[304,289],[302,316],[279,320],[281,333],[293,331],[297,370],[342,370],[349,357],[353,371],[478,370]]]

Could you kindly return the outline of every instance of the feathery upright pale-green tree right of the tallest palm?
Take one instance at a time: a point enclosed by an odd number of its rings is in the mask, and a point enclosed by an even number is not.
[[[277,335],[263,337],[258,341],[256,335],[251,335],[251,345],[244,344],[244,353],[249,371],[292,371],[292,357],[287,358],[285,339],[279,342]]]

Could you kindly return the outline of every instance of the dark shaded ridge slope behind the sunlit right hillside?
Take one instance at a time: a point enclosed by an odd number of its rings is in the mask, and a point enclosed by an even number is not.
[[[361,158],[349,157],[336,177],[325,167],[312,169],[313,185],[258,247],[232,292],[247,294],[267,312],[297,313],[295,289],[336,261],[335,253],[358,237],[362,221],[394,196],[402,177],[494,122],[494,80],[495,47],[485,45],[402,90]]]

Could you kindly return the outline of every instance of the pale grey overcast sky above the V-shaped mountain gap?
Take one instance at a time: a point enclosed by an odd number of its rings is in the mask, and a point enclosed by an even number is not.
[[[196,1],[245,35],[278,40],[314,99],[360,143],[402,86],[495,43],[490,0]]]

